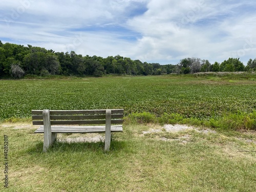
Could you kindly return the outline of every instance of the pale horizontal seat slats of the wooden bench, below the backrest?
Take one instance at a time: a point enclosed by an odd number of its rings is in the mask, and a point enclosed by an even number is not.
[[[105,126],[51,126],[52,133],[104,133]],[[112,125],[111,132],[122,132],[122,125]],[[44,126],[40,126],[35,133],[44,133]]]

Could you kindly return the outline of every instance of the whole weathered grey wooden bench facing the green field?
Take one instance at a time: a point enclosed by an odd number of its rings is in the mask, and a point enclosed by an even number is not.
[[[122,118],[123,109],[32,110],[33,125],[43,125],[35,133],[44,133],[44,152],[56,140],[58,133],[105,133],[104,151],[109,151],[111,132],[123,131]]]

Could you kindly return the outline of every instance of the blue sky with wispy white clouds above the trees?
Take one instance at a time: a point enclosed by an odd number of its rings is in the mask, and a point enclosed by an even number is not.
[[[256,58],[252,0],[1,0],[0,40],[176,65]]]

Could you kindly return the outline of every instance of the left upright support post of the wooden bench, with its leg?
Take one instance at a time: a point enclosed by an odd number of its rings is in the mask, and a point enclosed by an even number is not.
[[[44,121],[44,147],[42,151],[47,152],[53,142],[49,110],[42,111],[42,120]]]

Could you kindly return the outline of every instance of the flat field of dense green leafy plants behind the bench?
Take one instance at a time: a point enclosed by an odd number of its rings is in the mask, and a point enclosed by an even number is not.
[[[255,88],[254,78],[213,75],[1,80],[0,119],[27,118],[32,109],[124,109],[126,117],[161,122],[242,115],[253,129]]]

